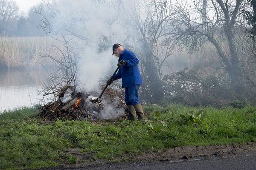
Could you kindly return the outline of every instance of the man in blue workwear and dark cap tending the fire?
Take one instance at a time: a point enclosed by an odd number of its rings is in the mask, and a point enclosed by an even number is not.
[[[112,47],[113,54],[119,57],[119,71],[108,80],[110,85],[114,80],[122,78],[122,88],[125,88],[125,103],[128,107],[128,118],[135,120],[137,115],[139,120],[145,118],[141,104],[139,103],[138,91],[142,85],[142,78],[138,68],[139,59],[131,51],[128,51],[120,44],[114,44]],[[112,55],[113,55],[112,54]]]

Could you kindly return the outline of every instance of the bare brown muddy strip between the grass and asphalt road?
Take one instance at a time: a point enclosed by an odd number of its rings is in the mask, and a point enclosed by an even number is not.
[[[72,148],[67,151],[74,156],[77,156],[79,161],[76,164],[62,164],[58,167],[42,168],[41,170],[75,170],[75,169],[90,169],[92,167],[99,166],[113,166],[120,162],[134,162],[138,163],[150,163],[150,162],[164,162],[164,161],[177,161],[177,160],[189,160],[195,158],[227,158],[233,156],[242,156],[247,153],[256,153],[256,143],[248,142],[246,144],[229,144],[219,146],[184,146],[175,147],[167,150],[161,150],[157,153],[148,152],[137,156],[131,156],[127,153],[119,159],[110,161],[105,160],[93,160],[92,156],[87,153],[80,153],[80,149]]]

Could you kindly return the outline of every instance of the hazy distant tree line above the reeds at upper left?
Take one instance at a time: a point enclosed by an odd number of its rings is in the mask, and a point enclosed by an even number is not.
[[[0,0],[0,36],[32,37],[44,36],[38,28],[42,15],[47,9],[40,3],[29,9],[28,15],[18,13],[18,6],[13,0]]]

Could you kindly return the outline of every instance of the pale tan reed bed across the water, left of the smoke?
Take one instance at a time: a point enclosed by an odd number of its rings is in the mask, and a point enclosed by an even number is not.
[[[38,68],[38,63],[50,65],[38,54],[45,53],[51,37],[0,37],[0,68]]]

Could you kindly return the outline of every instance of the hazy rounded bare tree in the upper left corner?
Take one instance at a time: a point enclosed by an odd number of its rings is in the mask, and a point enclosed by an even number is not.
[[[0,0],[0,33],[8,34],[8,28],[17,18],[18,6],[13,0]]]

